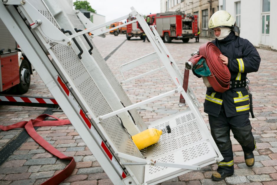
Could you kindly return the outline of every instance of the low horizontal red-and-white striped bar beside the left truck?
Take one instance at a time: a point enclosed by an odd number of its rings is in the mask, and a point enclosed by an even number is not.
[[[0,96],[0,101],[40,103],[40,104],[58,104],[53,98],[31,98],[21,96]]]

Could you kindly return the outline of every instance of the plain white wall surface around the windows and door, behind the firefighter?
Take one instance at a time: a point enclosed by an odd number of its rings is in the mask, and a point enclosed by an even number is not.
[[[219,0],[219,6],[223,6],[224,0]],[[225,10],[235,17],[235,2],[238,0],[225,0]],[[240,37],[248,39],[254,46],[261,46],[262,33],[262,8],[263,0],[240,1]],[[223,7],[224,9],[224,7]],[[267,47],[277,50],[277,2],[270,2],[270,41]]]

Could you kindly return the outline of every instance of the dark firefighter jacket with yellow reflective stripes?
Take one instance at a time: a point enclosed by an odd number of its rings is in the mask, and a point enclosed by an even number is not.
[[[232,80],[243,81],[247,73],[256,72],[260,66],[260,55],[256,48],[247,40],[231,32],[223,40],[213,40],[222,55],[228,57],[228,68]],[[229,89],[223,93],[207,88],[204,112],[218,116],[224,106],[227,117],[249,113],[249,96],[245,87]]]

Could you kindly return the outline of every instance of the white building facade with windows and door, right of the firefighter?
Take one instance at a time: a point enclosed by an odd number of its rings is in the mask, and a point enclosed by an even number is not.
[[[240,37],[256,47],[277,50],[276,0],[219,0],[219,7],[236,18]]]

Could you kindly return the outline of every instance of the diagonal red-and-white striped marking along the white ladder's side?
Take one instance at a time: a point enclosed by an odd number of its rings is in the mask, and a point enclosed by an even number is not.
[[[85,123],[88,125],[88,127],[90,128],[90,131],[93,133],[93,135],[95,136],[95,139],[97,140],[98,144],[103,148],[103,150],[105,151],[105,153],[107,154],[108,158],[111,160],[113,166],[116,168],[116,170],[118,171],[119,174],[121,174],[122,178],[126,178],[126,174],[124,173],[123,169],[121,168],[121,166],[118,164],[118,162],[116,161],[115,157],[113,156],[113,154],[111,153],[111,151],[108,149],[108,147],[106,146],[105,142],[102,140],[102,138],[100,137],[100,135],[98,134],[98,132],[95,130],[94,127],[91,126],[91,122],[90,119],[88,118],[88,116],[83,112],[82,109],[80,109],[80,107],[78,106],[77,101],[74,99],[73,95],[70,93],[70,91],[68,90],[67,86],[65,85],[65,83],[63,83],[62,79],[60,78],[60,76],[56,76],[56,80],[57,82],[60,84],[60,86],[62,87],[62,89],[65,91],[65,94],[67,94],[69,101],[73,104],[74,108],[79,112],[80,116],[83,118],[83,120],[85,121]]]

